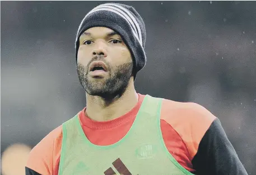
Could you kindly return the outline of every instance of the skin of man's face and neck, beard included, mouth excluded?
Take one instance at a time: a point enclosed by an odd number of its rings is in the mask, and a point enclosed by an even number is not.
[[[118,118],[138,102],[131,52],[122,37],[113,32],[110,28],[93,27],[80,37],[77,73],[86,91],[85,113],[96,121]],[[103,61],[107,71],[98,76],[90,74],[89,67],[95,61]]]

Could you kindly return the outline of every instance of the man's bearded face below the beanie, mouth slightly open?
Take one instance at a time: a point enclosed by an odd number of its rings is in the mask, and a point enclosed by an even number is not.
[[[132,69],[128,47],[110,28],[89,28],[80,36],[77,72],[88,94],[108,98],[123,93]]]

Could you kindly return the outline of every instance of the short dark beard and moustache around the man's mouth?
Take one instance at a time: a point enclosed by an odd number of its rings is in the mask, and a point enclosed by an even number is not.
[[[87,66],[77,64],[77,73],[83,89],[87,94],[101,96],[105,100],[111,100],[123,95],[127,89],[129,80],[132,76],[133,62],[127,62],[122,65],[111,67],[104,59],[94,57]],[[102,79],[89,77],[89,67],[91,62],[100,60],[108,68],[108,76]]]

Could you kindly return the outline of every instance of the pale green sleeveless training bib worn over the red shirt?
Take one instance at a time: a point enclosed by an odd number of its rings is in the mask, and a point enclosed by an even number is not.
[[[160,128],[162,99],[146,95],[128,133],[108,146],[92,144],[78,115],[63,123],[59,175],[184,175],[165,147]]]

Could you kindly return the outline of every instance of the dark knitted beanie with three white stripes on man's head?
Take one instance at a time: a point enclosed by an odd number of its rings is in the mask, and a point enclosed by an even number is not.
[[[87,13],[77,31],[76,63],[79,38],[83,32],[92,27],[108,27],[122,37],[132,54],[135,80],[137,72],[146,64],[144,51],[146,41],[145,23],[136,9],[125,4],[105,3]]]

